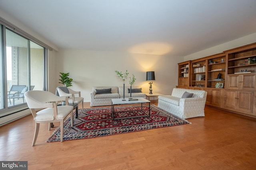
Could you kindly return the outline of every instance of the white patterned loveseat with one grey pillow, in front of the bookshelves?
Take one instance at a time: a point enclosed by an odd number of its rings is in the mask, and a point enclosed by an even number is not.
[[[184,92],[193,93],[191,98],[182,98]],[[172,95],[158,96],[158,107],[182,119],[204,116],[207,92],[174,88]]]

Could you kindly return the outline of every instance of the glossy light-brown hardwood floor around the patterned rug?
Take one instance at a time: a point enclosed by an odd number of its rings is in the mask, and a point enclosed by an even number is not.
[[[46,143],[55,128],[41,124],[32,147],[29,115],[0,127],[0,160],[27,160],[29,170],[255,169],[256,119],[206,106],[205,117],[187,120],[192,124],[63,143]]]

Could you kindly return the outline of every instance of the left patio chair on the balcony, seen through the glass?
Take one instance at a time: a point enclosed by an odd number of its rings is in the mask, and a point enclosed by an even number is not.
[[[20,97],[20,94],[24,94],[26,92],[25,89],[26,85],[12,85],[9,94],[7,94],[7,99],[10,100],[10,104],[12,104],[11,99],[13,100],[13,105],[14,105],[14,99],[16,98],[23,98],[23,103],[24,103],[24,95],[23,97]]]

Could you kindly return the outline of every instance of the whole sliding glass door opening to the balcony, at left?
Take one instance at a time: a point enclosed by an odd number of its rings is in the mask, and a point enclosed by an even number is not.
[[[0,118],[26,109],[24,92],[45,90],[47,49],[0,25]]]

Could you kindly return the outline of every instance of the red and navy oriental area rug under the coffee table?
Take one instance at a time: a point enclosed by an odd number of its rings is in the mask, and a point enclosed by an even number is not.
[[[119,113],[115,113],[115,117],[129,117],[128,119],[118,120],[113,120],[111,107],[79,109],[78,119],[75,118],[74,114],[74,126],[71,127],[70,117],[64,122],[63,140],[102,137],[189,124],[188,121],[172,115],[154,105],[150,106],[149,117],[138,117],[139,115],[145,116],[144,112],[138,111],[139,109],[141,109],[141,106],[115,107],[115,111],[120,111]],[[148,106],[143,106],[142,109],[148,113]],[[60,141],[60,127],[47,139],[47,142],[56,141]]]

